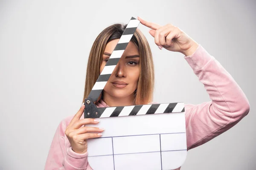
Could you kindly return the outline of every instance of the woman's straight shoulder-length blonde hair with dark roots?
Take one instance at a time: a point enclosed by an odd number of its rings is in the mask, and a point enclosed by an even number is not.
[[[100,75],[102,56],[107,43],[111,40],[119,39],[122,36],[122,33],[125,31],[126,26],[127,24],[123,25],[119,23],[108,26],[93,42],[87,64],[86,80],[84,85],[84,99],[89,96],[93,85]],[[136,45],[140,54],[140,76],[137,89],[134,92],[134,105],[145,105],[148,104],[148,102],[152,102],[153,99],[154,64],[152,53],[148,45],[148,41],[138,28],[131,38],[131,42]],[[102,95],[99,96],[96,103],[99,102],[101,98]]]

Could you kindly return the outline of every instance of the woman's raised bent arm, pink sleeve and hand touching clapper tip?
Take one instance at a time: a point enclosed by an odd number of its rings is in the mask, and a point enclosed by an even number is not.
[[[212,101],[199,105],[185,105],[187,147],[204,144],[238,123],[249,113],[250,105],[244,92],[222,65],[180,28],[160,26],[138,17],[140,23],[151,28],[160,49],[185,55],[199,81]]]

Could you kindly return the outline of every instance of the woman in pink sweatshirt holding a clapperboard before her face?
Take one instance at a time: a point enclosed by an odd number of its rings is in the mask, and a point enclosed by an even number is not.
[[[249,102],[239,85],[201,45],[171,24],[159,26],[139,17],[138,20],[151,28],[149,33],[160,49],[185,55],[184,58],[212,99],[199,105],[185,105],[187,150],[215,138],[249,113]],[[88,59],[84,99],[89,95],[124,29],[121,24],[109,26],[93,43]],[[96,105],[108,107],[152,103],[153,87],[151,51],[145,37],[137,29]],[[83,119],[84,107],[82,104],[75,116],[61,121],[45,169],[92,170],[87,161],[86,140],[101,136],[104,128],[90,127],[90,124],[99,122]],[[136,169],[135,166],[131,169]]]

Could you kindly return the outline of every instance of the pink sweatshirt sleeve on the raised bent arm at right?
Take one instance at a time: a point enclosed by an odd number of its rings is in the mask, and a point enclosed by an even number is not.
[[[201,45],[194,54],[184,58],[211,99],[198,105],[185,105],[189,150],[236,125],[249,113],[250,104],[233,77]]]

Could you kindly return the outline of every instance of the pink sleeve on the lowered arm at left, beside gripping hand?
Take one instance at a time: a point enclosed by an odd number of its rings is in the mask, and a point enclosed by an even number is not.
[[[70,143],[65,142],[65,130],[65,122],[61,121],[53,137],[44,169],[92,170],[87,161],[87,152],[75,153]]]

